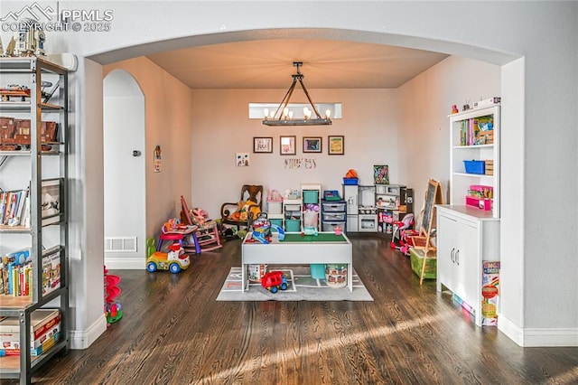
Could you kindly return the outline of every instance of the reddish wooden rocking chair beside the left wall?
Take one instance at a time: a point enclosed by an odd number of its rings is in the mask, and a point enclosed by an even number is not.
[[[219,239],[219,227],[217,222],[209,220],[206,211],[201,209],[189,210],[189,205],[181,195],[181,221],[187,225],[195,225],[197,229],[192,233],[192,237],[196,241],[197,254],[201,251],[210,251],[222,248],[223,245]],[[187,246],[184,247],[187,250]]]

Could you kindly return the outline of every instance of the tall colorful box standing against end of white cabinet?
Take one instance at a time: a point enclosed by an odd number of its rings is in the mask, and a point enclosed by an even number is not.
[[[481,275],[481,296],[481,325],[498,325],[499,261],[483,261]]]

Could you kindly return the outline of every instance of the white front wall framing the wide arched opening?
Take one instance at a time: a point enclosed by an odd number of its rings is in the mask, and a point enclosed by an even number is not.
[[[520,172],[524,188],[523,230],[508,231],[502,238],[523,244],[514,249],[522,261],[521,286],[524,305],[521,320],[513,328],[522,338],[508,333],[517,343],[532,344],[532,335],[542,333],[545,342],[560,332],[566,344],[578,345],[578,189],[575,122],[578,119],[578,4],[576,2],[308,2],[307,14],[295,13],[293,2],[275,2],[275,9],[263,17],[262,2],[67,2],[63,8],[97,7],[114,10],[113,28],[98,33],[53,33],[46,48],[52,52],[74,52],[94,61],[82,61],[73,85],[78,110],[73,123],[80,130],[72,151],[79,157],[71,165],[79,178],[79,199],[74,214],[72,239],[102,239],[101,215],[102,151],[91,136],[101,136],[102,70],[99,63],[136,57],[188,44],[203,44],[287,36],[350,39],[362,42],[394,43],[451,53],[496,64],[507,64],[525,57],[525,103],[510,104],[512,117],[524,116],[524,154],[504,167],[524,164]],[[22,2],[3,2],[3,12],[18,11]],[[135,17],[135,14],[137,16]],[[471,15],[485,14],[482,27],[472,27]],[[190,38],[186,38],[186,37]],[[180,38],[172,42],[165,39]],[[3,34],[3,40],[5,35]],[[5,40],[7,41],[7,40]],[[153,42],[153,44],[147,44]],[[519,68],[503,77],[517,77]],[[517,95],[516,81],[502,78],[502,96]],[[100,101],[98,101],[100,100]],[[506,103],[506,101],[505,101]],[[506,109],[506,108],[504,108]],[[520,123],[521,124],[521,123]],[[555,135],[548,135],[554,129]],[[84,133],[90,133],[89,135]],[[90,148],[86,144],[90,143]],[[147,138],[147,144],[149,143]],[[506,145],[506,144],[505,144]],[[89,177],[87,175],[90,175]],[[147,180],[149,178],[147,177]],[[160,182],[160,181],[154,181]],[[157,184],[158,185],[158,184]],[[94,189],[91,189],[94,188]],[[149,187],[147,186],[147,190]],[[100,192],[100,197],[98,192]],[[553,196],[555,202],[545,199]],[[517,206],[509,196],[502,205]],[[167,202],[159,200],[159,202]],[[150,203],[147,203],[147,211]],[[152,211],[158,215],[166,208]],[[519,212],[516,212],[520,214]],[[79,214],[84,214],[80,216]],[[511,214],[511,213],[510,213]],[[560,219],[555,225],[547,219]],[[523,234],[523,239],[520,239]],[[505,236],[505,237],[504,237]],[[72,271],[88,287],[96,287],[89,277],[102,267],[101,241],[71,243]],[[78,266],[76,264],[78,257]],[[94,262],[91,261],[94,259]],[[75,291],[79,319],[73,325],[85,329],[98,317],[86,307],[98,303],[86,290]],[[102,300],[102,299],[100,299]],[[99,309],[100,310],[100,309]],[[84,317],[86,315],[86,318]],[[551,333],[552,331],[555,333]],[[525,337],[529,337],[525,340]],[[560,339],[558,339],[560,341]]]

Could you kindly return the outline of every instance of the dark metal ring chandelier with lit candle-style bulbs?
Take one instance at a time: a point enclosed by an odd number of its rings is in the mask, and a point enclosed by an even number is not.
[[[327,126],[327,125],[331,125],[331,110],[326,110],[325,111],[325,115],[322,117],[322,115],[319,113],[319,110],[315,107],[315,105],[312,102],[311,97],[309,96],[309,92],[307,92],[307,89],[305,88],[305,85],[303,84],[303,74],[301,73],[301,70],[299,70],[301,68],[301,66],[303,66],[303,61],[294,61],[293,62],[293,66],[297,68],[297,73],[295,73],[294,75],[291,75],[293,77],[293,83],[291,84],[291,87],[289,87],[289,89],[287,90],[287,93],[285,94],[283,100],[281,100],[281,103],[279,103],[279,106],[277,107],[277,109],[275,110],[275,112],[271,111],[271,115],[269,115],[269,109],[265,108],[263,110],[263,115],[265,116],[265,118],[263,119],[263,124],[266,126]],[[297,81],[299,81],[299,84],[301,84],[301,88],[303,89],[303,92],[305,93],[305,96],[307,97],[307,100],[309,100],[309,104],[311,105],[310,109],[309,107],[304,107],[303,108],[303,118],[294,118],[294,112],[287,107],[287,105],[289,104],[289,100],[291,99],[291,96],[293,95],[293,91],[295,89],[295,85],[297,84]],[[312,117],[312,114],[315,114],[314,117]]]

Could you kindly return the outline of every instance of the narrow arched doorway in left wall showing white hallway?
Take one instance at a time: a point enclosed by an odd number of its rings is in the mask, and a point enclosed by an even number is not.
[[[144,268],[144,94],[126,70],[103,84],[105,265]]]

